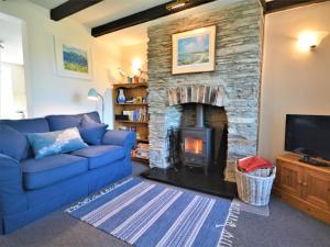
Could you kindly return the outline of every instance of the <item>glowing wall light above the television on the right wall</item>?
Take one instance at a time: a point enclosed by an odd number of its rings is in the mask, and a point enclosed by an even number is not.
[[[298,48],[302,52],[316,48],[328,34],[328,32],[305,31],[298,36]]]

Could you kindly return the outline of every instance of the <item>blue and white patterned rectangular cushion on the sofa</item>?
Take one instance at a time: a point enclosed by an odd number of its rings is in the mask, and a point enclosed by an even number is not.
[[[87,147],[77,127],[57,132],[28,134],[36,159]]]

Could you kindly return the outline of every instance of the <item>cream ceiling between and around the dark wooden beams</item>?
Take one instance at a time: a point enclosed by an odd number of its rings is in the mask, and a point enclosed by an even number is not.
[[[38,5],[42,5],[46,9],[53,9],[66,2],[66,0],[30,0],[30,1]],[[88,9],[75,13],[69,18],[86,25],[87,27],[95,27],[128,16],[130,14],[150,9],[152,7],[166,3],[168,1],[170,0],[130,0],[130,1],[105,0],[100,3],[89,7]],[[200,13],[204,11],[212,10],[216,7],[217,8],[226,7],[230,3],[238,2],[238,1],[241,0],[217,0],[215,2],[198,7],[198,12]],[[128,27],[97,38],[102,42],[107,42],[109,44],[114,44],[118,46],[135,45],[147,41],[147,34],[146,34],[147,26],[157,24],[161,21],[168,21],[176,18],[183,18],[194,13],[196,13],[196,9],[185,10],[173,15],[168,15],[162,19],[157,19],[155,21]]]

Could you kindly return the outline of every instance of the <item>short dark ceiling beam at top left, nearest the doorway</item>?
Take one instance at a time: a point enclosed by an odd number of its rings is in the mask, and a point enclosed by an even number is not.
[[[51,10],[51,19],[59,21],[103,0],[68,0]]]

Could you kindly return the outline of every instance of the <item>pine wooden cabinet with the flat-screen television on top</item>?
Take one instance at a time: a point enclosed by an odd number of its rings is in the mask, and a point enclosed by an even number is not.
[[[285,154],[276,158],[274,192],[290,205],[330,224],[330,168],[299,161]]]

